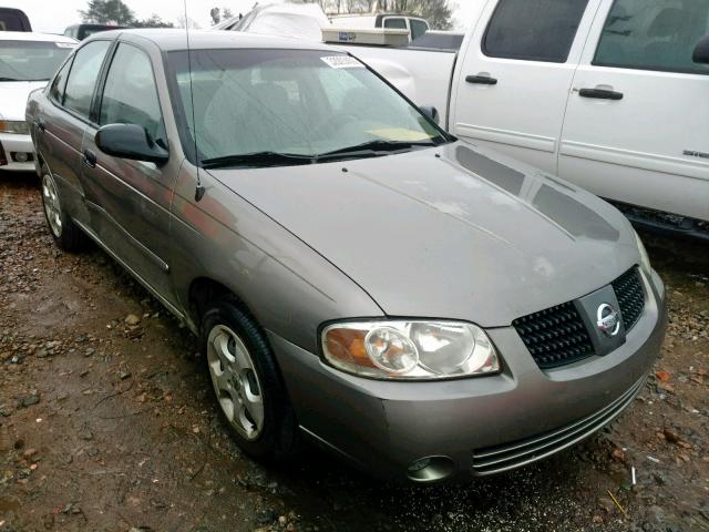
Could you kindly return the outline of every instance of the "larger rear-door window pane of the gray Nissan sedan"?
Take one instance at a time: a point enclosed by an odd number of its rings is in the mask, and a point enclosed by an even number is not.
[[[95,41],[76,52],[66,80],[64,106],[89,117],[93,91],[110,45],[110,41]]]

